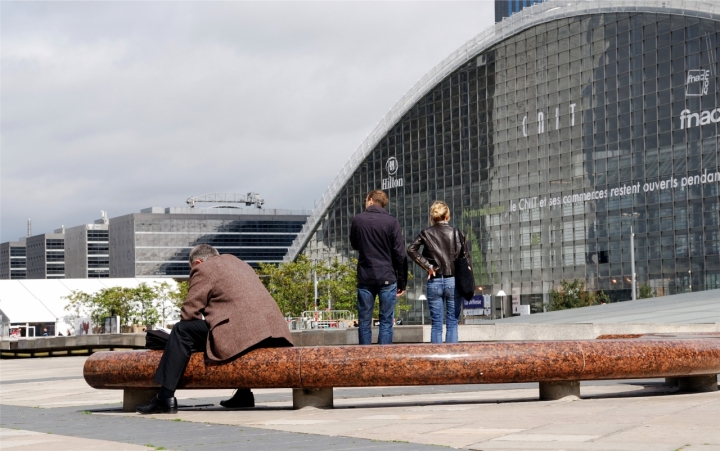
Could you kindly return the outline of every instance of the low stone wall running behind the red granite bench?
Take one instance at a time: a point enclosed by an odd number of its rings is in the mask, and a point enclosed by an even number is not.
[[[373,341],[378,328],[373,327]],[[470,324],[460,325],[461,342],[593,340],[600,335],[684,334],[720,332],[720,323],[708,324]],[[301,330],[292,332],[296,346],[358,344],[357,329]],[[430,326],[395,326],[394,343],[429,343]],[[100,350],[139,349],[145,334],[105,334],[70,337],[36,337],[0,341],[0,356],[49,357],[91,354]]]

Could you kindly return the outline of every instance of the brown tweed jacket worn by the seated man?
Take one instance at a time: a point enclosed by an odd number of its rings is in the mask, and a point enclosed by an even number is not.
[[[182,319],[205,316],[210,360],[227,360],[266,338],[284,338],[292,346],[285,318],[255,271],[233,255],[210,258],[190,271],[190,289]]]

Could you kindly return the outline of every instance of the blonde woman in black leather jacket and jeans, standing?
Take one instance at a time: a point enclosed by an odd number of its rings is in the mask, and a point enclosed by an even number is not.
[[[455,259],[465,252],[462,232],[448,224],[450,209],[442,201],[430,206],[430,227],[423,229],[408,247],[408,255],[428,272],[427,298],[432,329],[430,341],[442,343],[443,316],[446,343],[457,343],[462,298],[455,287]],[[422,253],[419,252],[423,247]],[[443,315],[443,313],[445,313]]]

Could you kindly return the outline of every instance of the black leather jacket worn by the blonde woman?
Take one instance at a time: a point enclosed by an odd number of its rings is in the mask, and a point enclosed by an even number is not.
[[[431,268],[438,276],[455,275],[455,259],[463,252],[465,237],[447,222],[423,229],[408,247],[408,255],[425,271]],[[419,252],[423,246],[422,253]],[[467,254],[466,254],[467,255]]]

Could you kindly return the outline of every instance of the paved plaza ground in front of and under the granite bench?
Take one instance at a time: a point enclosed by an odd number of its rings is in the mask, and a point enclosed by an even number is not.
[[[336,389],[332,410],[292,410],[291,390],[180,390],[177,415],[120,411],[84,357],[3,360],[0,449],[62,450],[720,450],[720,392],[662,380],[582,384],[582,399],[538,401],[537,384]],[[185,406],[185,407],[182,407]]]

